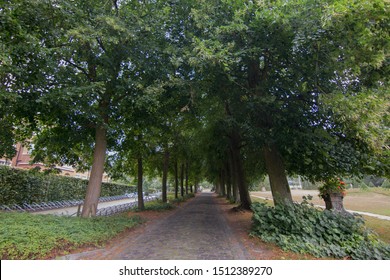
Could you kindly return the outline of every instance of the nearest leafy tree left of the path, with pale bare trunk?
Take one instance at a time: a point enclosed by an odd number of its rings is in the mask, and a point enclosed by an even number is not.
[[[32,96],[35,159],[92,164],[82,216],[93,216],[106,152],[121,138],[118,108],[131,104],[143,86],[142,73],[151,67],[148,38],[158,33],[157,12],[163,10],[154,1],[21,1],[13,8],[10,4],[6,12],[24,24],[23,32],[29,26],[38,30],[32,58],[17,64],[21,56],[12,57],[15,68],[30,77],[27,84],[24,75],[12,72],[13,92],[21,88],[20,96]],[[33,23],[24,23],[26,15]],[[46,17],[50,22],[42,20]],[[35,60],[45,66],[35,69]]]

